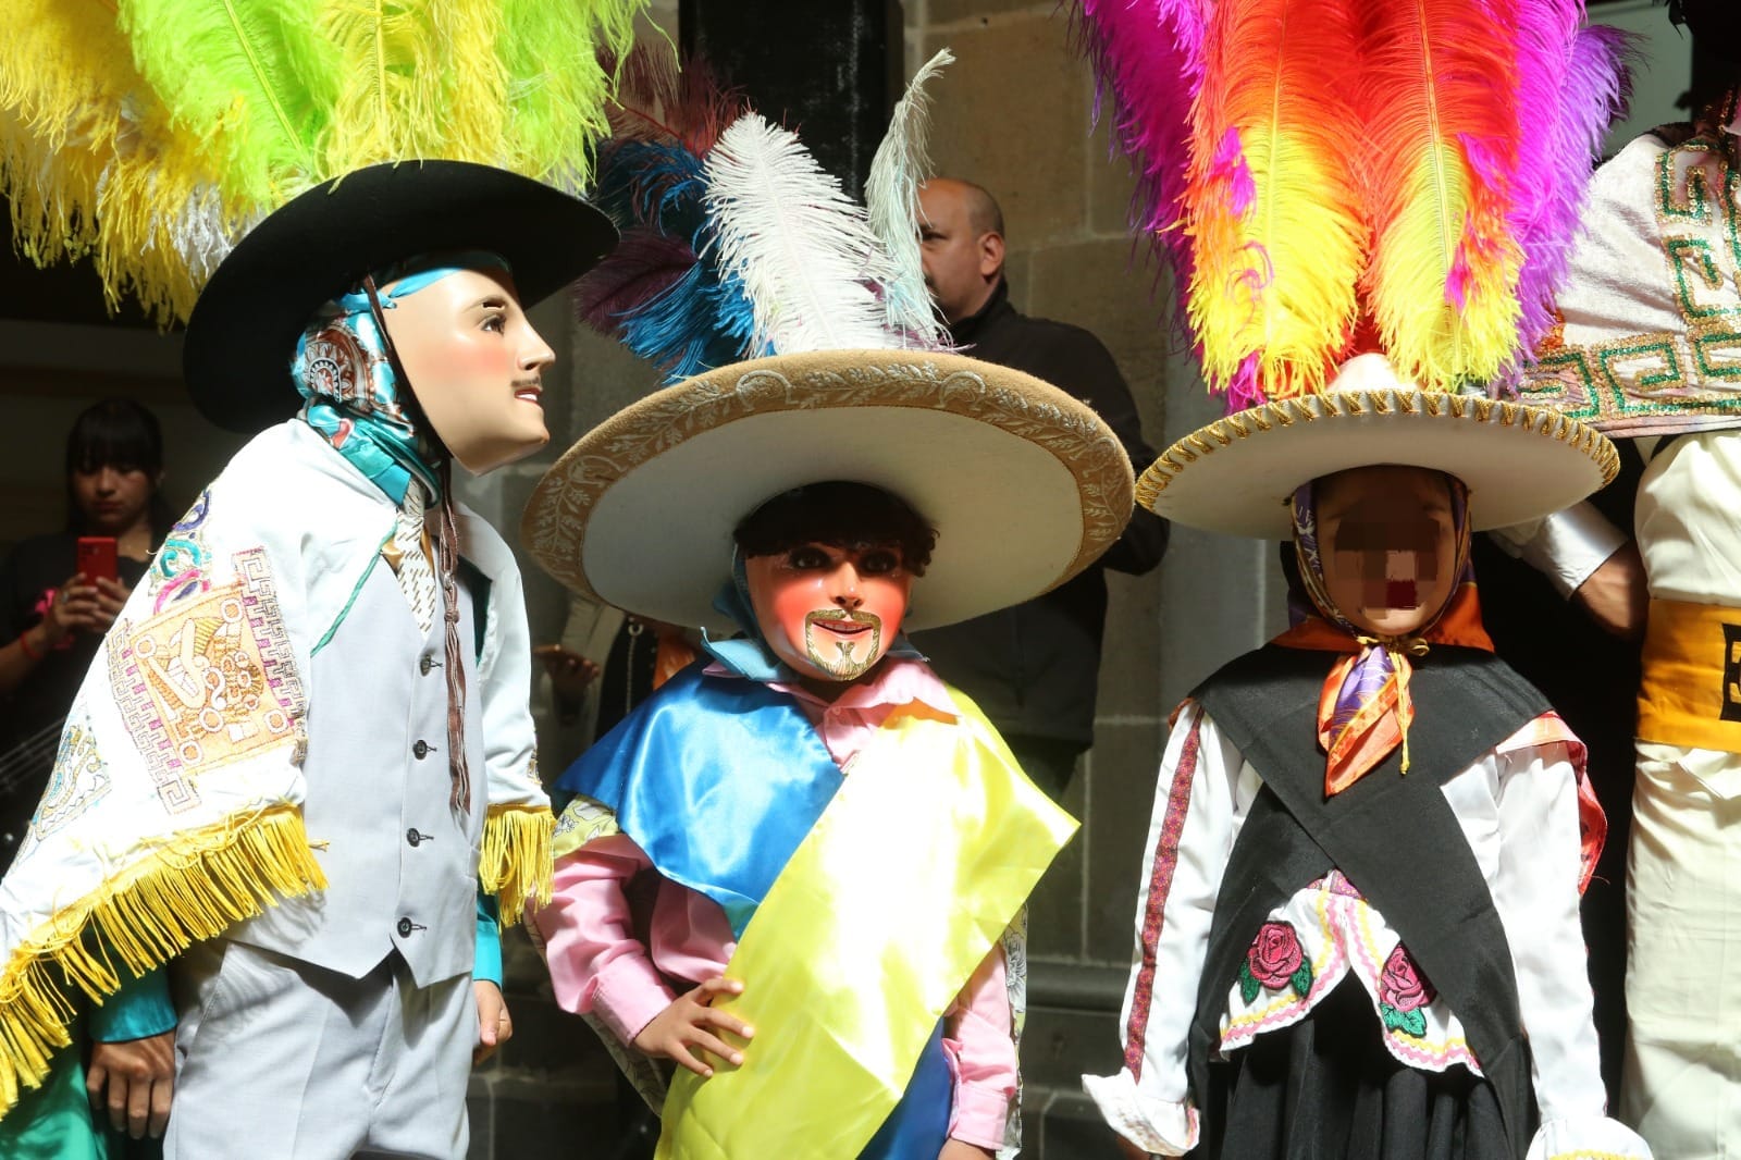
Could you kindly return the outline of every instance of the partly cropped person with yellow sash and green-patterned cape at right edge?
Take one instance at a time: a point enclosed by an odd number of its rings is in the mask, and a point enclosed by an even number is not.
[[[1588,577],[1574,599],[1644,637],[1621,1116],[1659,1157],[1692,1160],[1741,1144],[1741,991],[1711,967],[1729,961],[1741,909],[1727,871],[1741,852],[1741,23],[1720,0],[1670,12],[1727,63],[1724,91],[1596,171],[1558,324],[1522,388],[1633,441],[1633,528],[1579,505],[1513,540],[1549,577]]]

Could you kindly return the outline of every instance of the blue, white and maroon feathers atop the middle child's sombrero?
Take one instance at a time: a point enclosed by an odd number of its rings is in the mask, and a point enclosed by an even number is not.
[[[945,348],[916,221],[923,87],[951,59],[912,78],[858,206],[705,64],[679,75],[669,51],[637,47],[595,190],[623,237],[576,284],[581,319],[670,381],[766,354]]]

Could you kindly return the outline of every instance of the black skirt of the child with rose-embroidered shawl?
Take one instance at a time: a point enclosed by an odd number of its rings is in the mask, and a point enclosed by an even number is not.
[[[1534,1120],[1534,1109],[1532,1116]],[[1313,1012],[1210,1066],[1203,1141],[1226,1160],[1522,1160],[1492,1089],[1468,1068],[1421,1071],[1384,1049],[1353,975]]]

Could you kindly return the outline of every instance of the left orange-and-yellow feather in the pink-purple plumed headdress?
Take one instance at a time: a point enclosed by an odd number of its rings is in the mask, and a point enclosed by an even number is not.
[[[1356,49],[1346,0],[1215,9],[1193,110],[1187,312],[1229,406],[1323,385],[1354,329],[1363,125],[1325,61]],[[1262,390],[1259,390],[1262,383]]]

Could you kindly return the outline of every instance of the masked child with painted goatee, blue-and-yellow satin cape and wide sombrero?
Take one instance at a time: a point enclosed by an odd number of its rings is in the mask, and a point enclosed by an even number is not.
[[[662,1157],[1013,1150],[1008,928],[1076,824],[902,629],[1076,575],[1128,519],[1128,460],[1064,392],[884,329],[888,251],[789,132],[738,118],[703,181],[705,277],[763,287],[775,354],[606,420],[524,524],[569,587],[707,631],[559,780],[557,1002],[662,1108]]]

